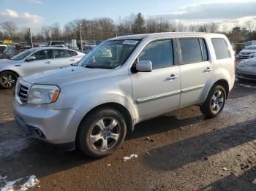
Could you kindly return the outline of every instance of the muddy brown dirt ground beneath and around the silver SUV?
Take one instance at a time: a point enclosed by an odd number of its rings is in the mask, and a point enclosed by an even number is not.
[[[256,190],[256,83],[236,82],[217,118],[193,106],[142,122],[102,160],[27,137],[12,91],[0,90],[0,187],[36,175],[31,190]]]

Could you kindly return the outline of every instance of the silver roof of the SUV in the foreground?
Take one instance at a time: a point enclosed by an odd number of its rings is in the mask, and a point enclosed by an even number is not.
[[[199,32],[167,32],[167,33],[153,33],[153,34],[135,34],[127,36],[118,36],[110,40],[122,40],[122,39],[134,39],[140,40],[144,38],[156,38],[164,36],[223,36],[223,34],[213,34],[213,33],[199,33]]]

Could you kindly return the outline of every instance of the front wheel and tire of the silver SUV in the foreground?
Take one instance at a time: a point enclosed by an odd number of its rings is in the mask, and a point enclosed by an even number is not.
[[[106,157],[121,146],[126,133],[127,125],[120,112],[112,108],[97,109],[80,123],[78,147],[89,157]]]

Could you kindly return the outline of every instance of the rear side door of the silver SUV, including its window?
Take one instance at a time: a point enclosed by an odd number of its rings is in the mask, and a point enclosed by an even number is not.
[[[181,63],[180,108],[200,103],[200,95],[206,81],[214,73],[214,64],[203,38],[178,38]]]

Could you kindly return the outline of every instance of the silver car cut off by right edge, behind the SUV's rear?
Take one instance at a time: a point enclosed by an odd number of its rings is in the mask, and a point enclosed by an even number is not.
[[[236,77],[256,81],[256,58],[241,61],[237,66]]]

